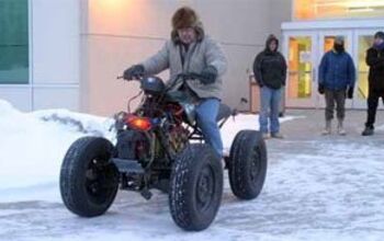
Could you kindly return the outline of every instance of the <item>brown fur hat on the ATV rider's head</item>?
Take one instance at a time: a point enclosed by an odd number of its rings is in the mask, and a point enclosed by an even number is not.
[[[189,7],[182,7],[178,9],[172,16],[173,30],[180,30],[183,27],[195,27],[200,23],[199,16],[195,11]]]

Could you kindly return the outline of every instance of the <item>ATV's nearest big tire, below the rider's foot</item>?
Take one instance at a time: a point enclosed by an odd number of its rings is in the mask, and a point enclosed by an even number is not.
[[[216,217],[223,195],[223,167],[207,145],[188,146],[174,162],[169,206],[182,229],[206,229]]]

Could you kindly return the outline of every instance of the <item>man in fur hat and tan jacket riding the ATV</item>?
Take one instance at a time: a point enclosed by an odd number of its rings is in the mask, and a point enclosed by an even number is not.
[[[221,46],[204,34],[199,16],[183,7],[172,16],[171,39],[155,56],[124,71],[124,79],[155,76],[170,70],[171,84],[179,73],[195,72],[201,78],[180,82],[173,87],[187,93],[196,105],[196,120],[204,139],[215,152],[223,156],[223,141],[216,116],[219,110],[223,80],[227,60]]]

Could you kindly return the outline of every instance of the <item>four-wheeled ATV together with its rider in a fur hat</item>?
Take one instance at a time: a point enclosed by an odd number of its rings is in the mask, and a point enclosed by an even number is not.
[[[125,70],[124,79],[137,80],[140,93],[129,99],[127,112],[114,115],[114,138],[80,137],[64,157],[60,194],[74,214],[103,215],[120,188],[146,199],[151,190],[168,193],[171,217],[184,230],[204,230],[216,217],[224,186],[219,127],[236,114],[219,101],[226,58],[192,9],[179,9],[172,24],[172,38],[158,54]],[[154,76],[167,68],[168,87]],[[225,157],[235,196],[258,197],[267,164],[261,134],[238,131]]]

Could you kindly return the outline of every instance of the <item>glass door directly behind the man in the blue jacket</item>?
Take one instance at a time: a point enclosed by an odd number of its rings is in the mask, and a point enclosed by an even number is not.
[[[353,58],[353,34],[352,31],[321,31],[319,33],[319,55],[317,59],[317,69],[320,65],[324,54],[334,48],[334,43],[337,36],[345,37],[346,51]],[[316,77],[317,80],[317,77]],[[317,93],[318,94],[318,93]],[[319,94],[318,94],[319,95]],[[323,95],[318,96],[318,107],[325,107],[325,97]],[[352,107],[352,101],[347,100],[346,107]]]

